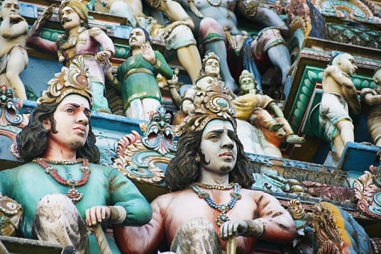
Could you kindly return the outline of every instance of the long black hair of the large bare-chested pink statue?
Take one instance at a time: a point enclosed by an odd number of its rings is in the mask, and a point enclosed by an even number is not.
[[[194,155],[198,153],[202,158],[201,139],[202,130],[187,132],[179,138],[176,157],[170,161],[165,172],[165,181],[171,191],[184,190],[197,181],[199,169]],[[237,162],[229,173],[229,182],[250,189],[254,183],[253,166],[244,153],[244,147],[237,133],[233,139],[237,145]]]

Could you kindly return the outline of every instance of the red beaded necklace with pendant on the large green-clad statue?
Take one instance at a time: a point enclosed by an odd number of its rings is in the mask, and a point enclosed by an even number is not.
[[[69,190],[65,194],[67,197],[71,199],[73,203],[79,202],[83,194],[80,193],[78,190],[76,190],[76,187],[81,187],[84,186],[87,181],[89,181],[89,175],[90,175],[90,168],[89,168],[89,163],[86,159],[78,159],[75,161],[51,161],[51,160],[45,160],[44,158],[36,158],[33,159],[34,163],[37,163],[40,165],[42,168],[45,169],[45,172],[47,174],[50,174],[54,180],[56,180],[59,184],[64,185],[64,186],[69,186]],[[51,164],[75,164],[82,162],[82,167],[80,170],[83,172],[82,179],[79,181],[75,181],[75,179],[70,178],[68,180],[64,180],[57,172],[57,169],[55,167],[50,166],[47,162]]]

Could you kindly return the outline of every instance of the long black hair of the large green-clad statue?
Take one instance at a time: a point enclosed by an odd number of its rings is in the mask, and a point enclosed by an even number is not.
[[[53,117],[57,106],[58,103],[37,106],[29,118],[29,124],[17,134],[17,150],[25,163],[32,161],[36,157],[43,156],[48,146],[48,131],[42,125],[44,120],[49,119],[51,131],[58,133],[56,130],[56,121]],[[95,145],[96,139],[90,123],[89,127],[86,143],[77,150],[77,158],[84,158],[91,163],[97,164],[100,160],[100,152]]]

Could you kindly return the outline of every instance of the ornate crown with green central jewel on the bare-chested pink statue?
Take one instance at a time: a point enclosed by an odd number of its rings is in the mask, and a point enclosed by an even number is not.
[[[175,127],[177,136],[193,130],[202,130],[207,123],[214,119],[230,121],[236,129],[236,109],[232,97],[220,86],[209,86],[206,91],[197,92],[193,102],[194,110],[184,119],[183,123]]]

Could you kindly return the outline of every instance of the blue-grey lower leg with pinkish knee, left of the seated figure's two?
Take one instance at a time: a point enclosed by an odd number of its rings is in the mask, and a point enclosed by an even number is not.
[[[202,19],[199,38],[206,51],[211,50],[220,58],[220,74],[226,87],[238,93],[239,88],[230,74],[225,45],[226,38],[221,26],[213,18]]]

